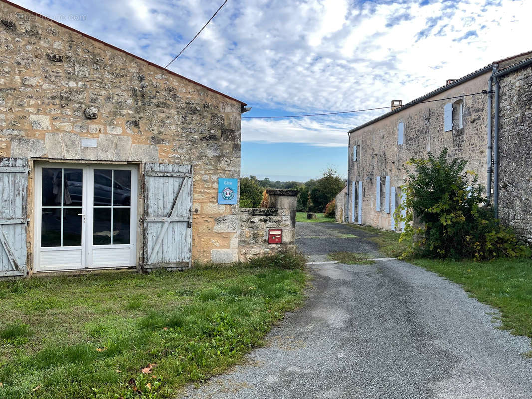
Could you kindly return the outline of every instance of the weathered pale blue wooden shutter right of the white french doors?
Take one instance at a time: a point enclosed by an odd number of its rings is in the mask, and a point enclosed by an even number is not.
[[[146,163],[144,268],[190,266],[192,165]]]

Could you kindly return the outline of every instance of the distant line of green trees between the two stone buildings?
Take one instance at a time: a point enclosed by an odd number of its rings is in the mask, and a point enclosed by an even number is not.
[[[302,181],[257,179],[255,176],[240,179],[240,207],[256,208],[263,202],[263,191],[268,188],[299,190],[297,195],[298,212],[325,212],[328,203],[345,186],[345,180],[333,168],[328,168],[319,179]]]

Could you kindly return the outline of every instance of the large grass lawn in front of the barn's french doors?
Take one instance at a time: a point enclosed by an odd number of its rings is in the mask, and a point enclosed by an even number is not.
[[[0,398],[172,397],[302,305],[287,262],[0,282]]]

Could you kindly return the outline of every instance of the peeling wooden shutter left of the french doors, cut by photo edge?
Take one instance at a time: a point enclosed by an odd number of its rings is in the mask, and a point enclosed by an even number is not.
[[[0,158],[0,277],[26,276],[28,160]]]

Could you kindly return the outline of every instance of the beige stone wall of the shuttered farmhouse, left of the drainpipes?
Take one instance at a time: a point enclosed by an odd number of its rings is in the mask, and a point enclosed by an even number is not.
[[[429,99],[479,93],[486,89],[488,77],[489,72],[486,72]],[[362,224],[392,229],[391,214],[385,212],[385,176],[390,176],[390,186],[403,185],[403,165],[411,157],[426,157],[428,151],[438,154],[443,147],[448,147],[450,156],[467,159],[467,169],[478,173],[479,182],[486,184],[487,96],[463,97],[462,128],[458,128],[458,121],[454,120],[454,128],[444,131],[444,105],[456,100],[442,99],[413,105],[352,132],[349,140],[350,180],[362,181]],[[457,106],[458,103],[454,104],[453,119],[458,116]],[[397,144],[400,122],[404,123],[404,144]],[[353,161],[355,145],[358,146],[358,154],[357,160]],[[380,212],[376,211],[377,176],[381,177]],[[350,222],[353,220],[351,195]],[[358,196],[355,200],[358,202]]]

